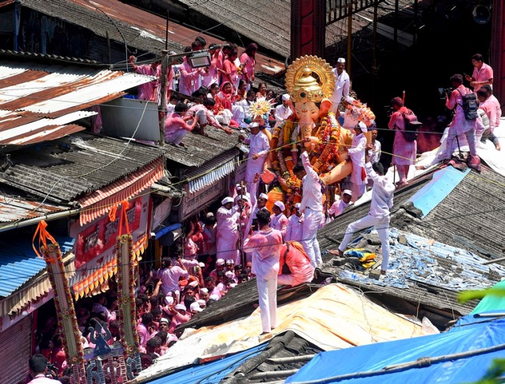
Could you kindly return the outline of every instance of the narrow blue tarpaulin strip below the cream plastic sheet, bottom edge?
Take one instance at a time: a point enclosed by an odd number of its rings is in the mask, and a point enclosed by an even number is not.
[[[268,346],[268,343],[260,344],[254,348],[249,348],[234,355],[230,355],[214,362],[206,364],[192,365],[174,374],[169,374],[162,378],[149,381],[149,384],[214,384],[219,383],[227,374],[240,364],[258,355]]]

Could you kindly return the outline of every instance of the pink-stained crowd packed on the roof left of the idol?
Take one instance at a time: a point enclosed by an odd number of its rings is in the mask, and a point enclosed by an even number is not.
[[[288,108],[287,95],[276,95],[264,82],[254,87],[256,43],[247,45],[239,55],[233,43],[224,46],[211,43],[207,47],[205,39],[198,37],[184,52],[191,54],[205,49],[210,54],[209,66],[193,68],[191,60],[184,56],[182,64],[171,65],[166,73],[166,116],[163,117],[166,143],[184,146],[186,133],[205,135],[207,126],[228,134],[232,132],[230,127],[248,127],[249,106],[261,98],[271,100],[272,106],[278,104],[275,112],[272,110],[269,114],[272,125],[280,124],[293,113]],[[129,64],[136,73],[156,77],[138,87],[137,98],[160,104],[161,60],[137,65],[136,57],[131,56]]]

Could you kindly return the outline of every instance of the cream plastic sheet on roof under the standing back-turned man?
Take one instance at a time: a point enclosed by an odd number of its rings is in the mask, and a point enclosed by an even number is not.
[[[205,309],[212,310],[212,307]],[[257,346],[286,330],[292,330],[323,350],[348,348],[433,332],[374,304],[363,294],[342,284],[319,288],[310,297],[277,309],[277,327],[261,333],[260,310],[251,316],[199,330],[187,329],[165,355],[140,372],[147,379],[163,371],[193,364],[196,358],[233,353]]]

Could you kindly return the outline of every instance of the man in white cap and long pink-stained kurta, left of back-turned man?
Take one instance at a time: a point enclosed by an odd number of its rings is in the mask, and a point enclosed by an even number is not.
[[[237,250],[238,240],[238,218],[240,212],[238,207],[233,206],[233,198],[224,198],[221,201],[222,206],[217,209],[217,257],[233,258],[237,261],[239,254]]]

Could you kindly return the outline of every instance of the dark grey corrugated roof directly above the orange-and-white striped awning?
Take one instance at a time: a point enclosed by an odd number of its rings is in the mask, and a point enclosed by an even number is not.
[[[163,156],[157,147],[75,133],[10,154],[0,181],[53,202],[96,191]]]

